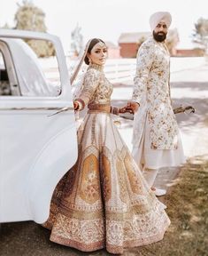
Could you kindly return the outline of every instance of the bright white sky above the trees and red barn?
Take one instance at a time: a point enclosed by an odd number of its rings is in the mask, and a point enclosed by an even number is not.
[[[33,0],[46,14],[48,32],[61,38],[65,52],[70,46],[71,32],[81,26],[84,41],[101,37],[117,44],[120,33],[149,31],[153,12],[168,11],[173,16],[171,28],[177,28],[181,48],[190,48],[194,23],[208,19],[207,0]],[[0,26],[14,26],[14,14],[21,1],[0,0]]]

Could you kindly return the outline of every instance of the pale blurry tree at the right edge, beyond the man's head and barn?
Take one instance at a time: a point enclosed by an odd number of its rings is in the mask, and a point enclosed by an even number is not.
[[[199,44],[204,52],[208,51],[208,20],[200,18],[195,23],[193,42]]]

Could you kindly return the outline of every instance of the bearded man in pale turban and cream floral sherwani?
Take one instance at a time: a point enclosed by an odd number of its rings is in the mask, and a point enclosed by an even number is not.
[[[158,169],[184,163],[178,125],[170,97],[170,55],[165,44],[172,17],[169,12],[150,16],[152,36],[139,48],[135,87],[128,109],[135,113],[133,156],[156,196],[165,189],[154,188]]]

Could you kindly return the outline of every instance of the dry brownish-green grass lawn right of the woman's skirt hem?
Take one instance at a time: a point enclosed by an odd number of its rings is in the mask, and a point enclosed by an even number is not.
[[[162,241],[134,248],[125,255],[205,256],[208,255],[208,160],[189,159],[167,196],[161,201],[171,226]]]

